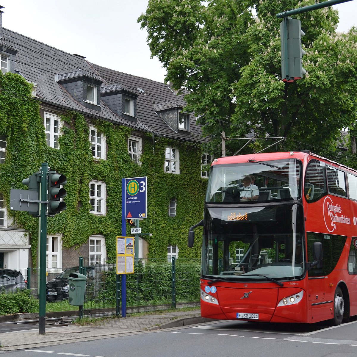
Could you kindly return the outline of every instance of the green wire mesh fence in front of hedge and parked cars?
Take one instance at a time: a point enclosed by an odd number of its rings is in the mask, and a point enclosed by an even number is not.
[[[68,301],[68,279],[58,278],[65,270],[47,273],[47,303]],[[38,269],[19,271],[27,280],[31,295],[38,297]],[[77,272],[86,275],[85,301],[80,315],[122,314],[121,298],[125,292],[126,313],[198,307],[200,303],[199,259],[139,259],[135,261],[134,274],[126,274],[125,291],[122,291],[122,275],[117,275],[115,264],[106,260],[93,264],[80,257]]]

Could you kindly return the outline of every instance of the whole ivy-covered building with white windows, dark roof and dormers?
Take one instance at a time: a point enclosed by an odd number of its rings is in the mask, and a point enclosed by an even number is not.
[[[0,55],[0,267],[36,266],[38,218],[11,210],[9,192],[42,162],[67,177],[67,209],[47,218],[49,272],[79,256],[114,262],[126,177],[147,177],[139,257],[198,258],[187,231],[212,158],[184,96],[5,28]]]

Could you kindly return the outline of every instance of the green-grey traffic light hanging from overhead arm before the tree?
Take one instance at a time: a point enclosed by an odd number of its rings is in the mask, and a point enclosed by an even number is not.
[[[280,22],[281,78],[284,82],[302,79],[306,70],[302,67],[305,51],[301,48],[300,20],[286,17]]]

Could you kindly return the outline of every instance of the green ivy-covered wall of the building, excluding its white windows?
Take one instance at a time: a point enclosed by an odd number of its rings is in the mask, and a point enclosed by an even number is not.
[[[77,265],[78,256],[88,257],[89,237],[96,235],[105,238],[106,256],[109,261],[115,261],[116,236],[121,235],[122,178],[140,176],[147,176],[147,218],[140,221],[140,227],[142,232],[152,233],[145,237],[147,250],[143,250],[143,256],[166,258],[167,247],[177,245],[178,257],[200,257],[198,232],[195,248],[187,248],[188,228],[203,215],[207,185],[207,179],[201,177],[199,140],[190,141],[190,136],[180,140],[175,135],[141,131],[65,105],[54,105],[40,96],[34,98],[32,91],[33,85],[21,75],[0,72],[0,136],[6,142],[4,160],[0,164],[0,194],[7,217],[7,225],[0,228],[0,251],[6,255],[10,245],[5,237],[14,231],[19,236],[15,246],[26,247],[23,251],[29,255],[28,262],[23,256],[15,260],[8,256],[6,267],[23,268],[27,263],[36,266],[38,218],[10,209],[10,189],[26,189],[21,181],[37,172],[42,162],[67,177],[64,199],[67,208],[47,218],[47,234],[59,235],[61,239],[62,266]],[[136,110],[139,112],[140,108]],[[46,143],[44,112],[61,119],[59,148]],[[162,121],[159,115],[157,120]],[[105,137],[105,159],[93,156],[90,126]],[[133,133],[142,138],[139,164],[128,152],[128,138]],[[179,174],[165,172],[167,147],[175,147],[177,154],[180,153]],[[105,182],[105,214],[91,212],[92,180]],[[173,198],[176,215],[171,217],[169,205]]]

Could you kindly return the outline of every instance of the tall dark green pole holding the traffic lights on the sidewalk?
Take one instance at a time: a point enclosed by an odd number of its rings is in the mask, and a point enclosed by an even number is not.
[[[48,164],[41,164],[41,201],[47,201],[47,172]],[[46,240],[47,240],[47,203],[40,203],[40,289],[39,289],[39,335],[46,333]]]

